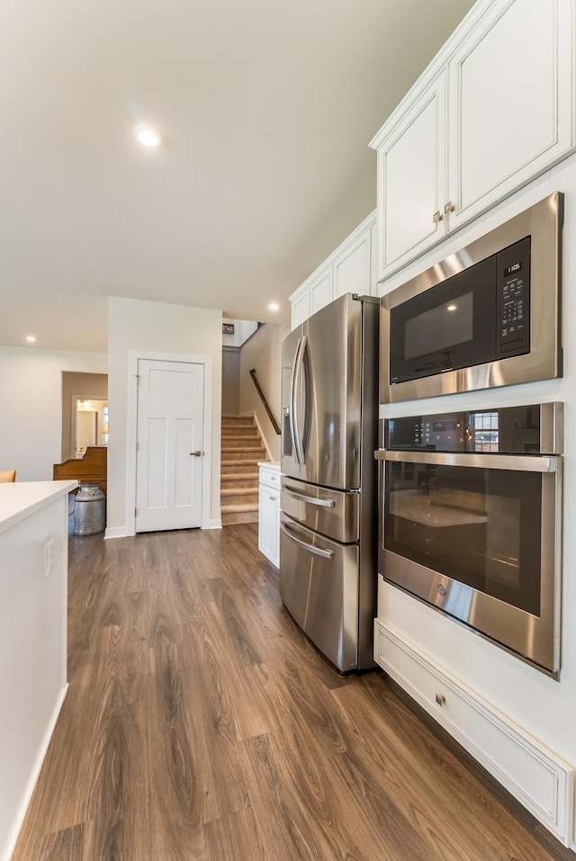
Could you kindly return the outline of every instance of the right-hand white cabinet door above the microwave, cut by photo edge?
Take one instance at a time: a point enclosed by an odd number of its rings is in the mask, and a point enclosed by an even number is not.
[[[572,8],[571,0],[500,0],[455,50],[449,229],[572,148]]]

